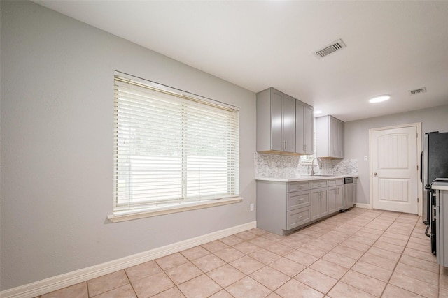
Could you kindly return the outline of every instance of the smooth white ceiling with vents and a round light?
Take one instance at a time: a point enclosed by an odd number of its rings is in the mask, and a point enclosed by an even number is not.
[[[448,1],[35,2],[343,121],[448,104]],[[338,38],[346,48],[314,57]],[[391,100],[368,103],[380,94]]]

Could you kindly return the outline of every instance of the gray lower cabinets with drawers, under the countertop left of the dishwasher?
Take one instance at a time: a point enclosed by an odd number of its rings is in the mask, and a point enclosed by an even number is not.
[[[257,226],[284,235],[343,209],[344,179],[257,181]]]

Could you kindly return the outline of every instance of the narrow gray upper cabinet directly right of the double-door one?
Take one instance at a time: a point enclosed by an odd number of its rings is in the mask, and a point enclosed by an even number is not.
[[[313,154],[313,107],[295,100],[295,153]]]

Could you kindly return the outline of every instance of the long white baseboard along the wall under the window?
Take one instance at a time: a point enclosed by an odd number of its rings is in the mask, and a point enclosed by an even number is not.
[[[12,288],[0,292],[1,298],[32,298],[39,295],[46,294],[55,290],[69,287],[70,285],[76,285],[88,281],[92,278],[97,278],[105,274],[139,265],[144,262],[155,260],[157,258],[165,257],[165,255],[171,255],[172,253],[178,253],[188,248],[192,248],[207,242],[228,237],[232,234],[244,232],[257,227],[257,222],[244,223],[243,225],[237,225],[232,228],[220,230],[210,234],[205,234],[192,239],[187,239],[167,246],[151,249],[151,251],[144,251],[143,253],[137,253],[125,258],[105,262],[103,264],[94,265],[91,267],[71,271],[66,274],[43,279],[42,281],[36,281],[27,285],[21,285],[17,288]]]

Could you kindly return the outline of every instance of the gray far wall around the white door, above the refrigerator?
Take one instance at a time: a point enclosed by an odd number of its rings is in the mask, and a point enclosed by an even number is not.
[[[447,98],[448,103],[448,98]],[[358,159],[357,202],[370,202],[369,129],[421,122],[422,133],[448,131],[448,105],[345,123],[345,158]]]

